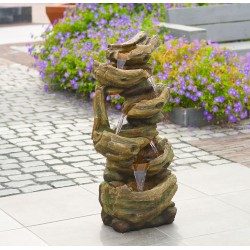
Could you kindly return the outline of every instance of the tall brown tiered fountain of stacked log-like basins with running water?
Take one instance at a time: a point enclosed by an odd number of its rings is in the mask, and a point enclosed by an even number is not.
[[[125,43],[108,46],[110,63],[94,64],[100,85],[94,97],[92,139],[96,151],[107,158],[99,188],[101,216],[118,232],[169,224],[176,215],[171,201],[176,177],[168,170],[174,154],[156,130],[170,90],[154,84],[148,63],[157,46],[158,36],[140,32]],[[115,94],[125,102],[117,128],[111,129],[105,99]]]

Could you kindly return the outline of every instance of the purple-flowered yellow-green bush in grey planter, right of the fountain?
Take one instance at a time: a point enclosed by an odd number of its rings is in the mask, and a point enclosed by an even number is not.
[[[173,39],[154,52],[156,80],[172,88],[165,111],[204,108],[207,120],[243,119],[249,109],[250,64],[236,53],[206,41]]]

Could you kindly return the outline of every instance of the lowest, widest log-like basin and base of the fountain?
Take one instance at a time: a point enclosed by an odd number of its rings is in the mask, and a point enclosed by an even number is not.
[[[143,192],[136,192],[122,183],[114,186],[102,182],[99,201],[103,223],[121,233],[170,224],[177,212],[171,201],[176,191],[176,177],[173,174]]]

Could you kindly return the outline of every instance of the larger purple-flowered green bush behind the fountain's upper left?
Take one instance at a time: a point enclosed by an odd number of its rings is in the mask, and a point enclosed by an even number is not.
[[[98,84],[92,74],[94,60],[106,61],[108,43],[122,43],[142,30],[157,32],[162,6],[115,3],[69,8],[60,22],[42,34],[43,42],[29,48],[45,89],[67,89],[92,98]],[[123,100],[108,96],[107,101],[120,108]]]

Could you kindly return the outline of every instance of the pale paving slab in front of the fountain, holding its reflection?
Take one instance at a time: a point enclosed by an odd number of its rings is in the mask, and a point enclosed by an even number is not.
[[[117,233],[112,228],[103,225],[99,214],[32,226],[29,230],[49,245],[57,246],[147,246],[174,240],[155,228],[126,234]]]

